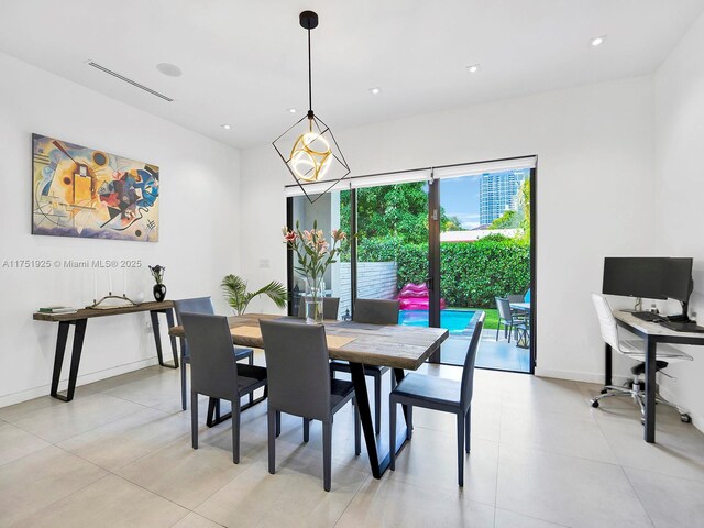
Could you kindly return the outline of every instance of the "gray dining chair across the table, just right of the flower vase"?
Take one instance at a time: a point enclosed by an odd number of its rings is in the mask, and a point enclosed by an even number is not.
[[[387,299],[356,299],[352,320],[354,322],[366,322],[370,324],[398,324],[398,300]],[[334,376],[336,372],[350,373],[350,364],[346,361],[333,360],[330,362],[330,370]],[[374,426],[376,435],[382,431],[382,376],[389,369],[388,366],[364,365],[364,375],[374,378]],[[396,384],[396,378],[392,376],[392,388]]]

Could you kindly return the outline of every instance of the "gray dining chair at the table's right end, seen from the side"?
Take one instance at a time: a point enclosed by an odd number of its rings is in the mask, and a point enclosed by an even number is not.
[[[389,395],[389,427],[391,427],[391,469],[396,469],[396,405],[408,406],[408,427],[406,438],[413,436],[413,407],[452,413],[458,424],[458,483],[464,485],[464,454],[462,448],[470,452],[470,433],[472,431],[472,392],[474,388],[474,363],[480,348],[485,314],[482,311],[462,367],[462,381],[446,380],[443,377],[427,376],[410,373],[392,391]]]

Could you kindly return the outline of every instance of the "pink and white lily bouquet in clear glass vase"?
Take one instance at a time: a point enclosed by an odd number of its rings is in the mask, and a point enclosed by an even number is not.
[[[322,298],[324,297],[324,275],[328,266],[333,264],[340,253],[340,243],[346,240],[344,231],[333,229],[330,244],[318,221],[312,222],[311,230],[301,230],[296,222],[296,229],[284,227],[284,243],[288,245],[298,258],[298,265],[294,268],[306,277],[306,322],[308,324],[322,324]]]

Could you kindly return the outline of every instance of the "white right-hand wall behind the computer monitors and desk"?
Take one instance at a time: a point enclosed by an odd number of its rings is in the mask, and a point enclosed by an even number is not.
[[[704,324],[704,15],[654,76],[657,200],[654,226],[661,254],[694,257],[691,310]],[[693,363],[678,363],[662,378],[662,392],[704,425],[704,349],[685,348]],[[683,349],[684,350],[684,349]]]

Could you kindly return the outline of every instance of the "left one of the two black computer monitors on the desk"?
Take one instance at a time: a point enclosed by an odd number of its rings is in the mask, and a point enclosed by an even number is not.
[[[604,258],[602,293],[647,299],[667,299],[662,292],[664,261],[666,258],[653,256],[607,256]]]

